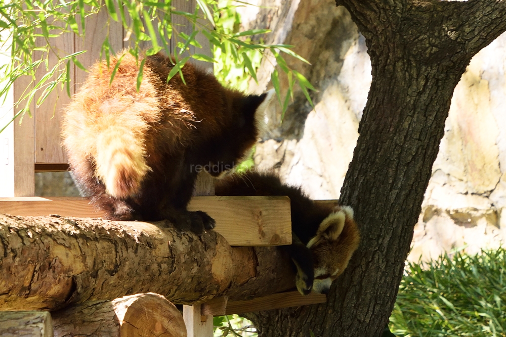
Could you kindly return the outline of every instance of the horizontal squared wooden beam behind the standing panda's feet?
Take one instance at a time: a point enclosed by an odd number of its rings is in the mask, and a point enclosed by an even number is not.
[[[189,210],[207,212],[216,220],[216,231],[231,246],[291,244],[288,197],[193,197]],[[0,198],[0,213],[20,216],[58,214],[98,218],[103,215],[86,198]]]

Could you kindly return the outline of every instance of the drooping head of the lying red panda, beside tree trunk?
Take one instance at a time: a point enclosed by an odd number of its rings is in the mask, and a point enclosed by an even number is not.
[[[313,292],[328,292],[332,281],[348,266],[359,242],[360,232],[353,220],[353,209],[334,207],[334,212],[320,223],[316,235],[307,244],[314,262]]]

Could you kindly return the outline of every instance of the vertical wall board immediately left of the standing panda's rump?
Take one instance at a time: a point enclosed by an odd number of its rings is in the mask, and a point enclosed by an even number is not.
[[[42,38],[40,38],[42,40]],[[46,41],[39,43],[46,44]],[[51,50],[48,55],[49,69],[58,63],[58,58],[72,54],[74,52],[74,33],[64,33],[59,38],[51,40]],[[41,57],[41,52],[34,52],[35,59]],[[65,69],[65,64],[60,66],[60,71]],[[40,66],[36,73],[36,81],[42,78],[48,70]],[[56,79],[55,74],[50,80]],[[74,68],[70,69],[70,93],[73,93]],[[39,90],[35,94],[35,100],[38,100],[43,94]],[[66,163],[67,156],[61,146],[60,125],[63,119],[63,107],[70,103],[67,91],[61,86],[57,86],[53,92],[46,98],[43,104],[35,108],[35,162],[40,163]]]

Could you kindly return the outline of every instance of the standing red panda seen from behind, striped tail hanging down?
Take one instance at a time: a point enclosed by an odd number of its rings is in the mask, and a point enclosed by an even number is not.
[[[186,210],[197,174],[220,175],[243,157],[273,92],[225,88],[190,63],[181,70],[186,84],[179,75],[167,82],[173,64],[161,54],[146,58],[137,90],[139,63],[123,51],[109,65],[95,64],[65,109],[62,139],[74,179],[108,219],[212,229],[206,213]]]

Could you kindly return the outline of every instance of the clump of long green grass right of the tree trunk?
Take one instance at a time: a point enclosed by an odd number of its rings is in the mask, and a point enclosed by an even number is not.
[[[506,251],[409,263],[390,330],[397,336],[506,336]]]

